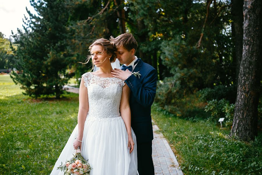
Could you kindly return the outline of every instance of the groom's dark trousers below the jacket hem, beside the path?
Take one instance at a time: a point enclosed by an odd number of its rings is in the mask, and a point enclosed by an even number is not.
[[[152,159],[152,141],[137,142],[137,166],[139,175],[155,175]]]

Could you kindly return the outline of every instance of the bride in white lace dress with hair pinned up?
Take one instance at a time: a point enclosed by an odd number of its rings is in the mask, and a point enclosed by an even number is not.
[[[130,89],[111,74],[116,60],[114,45],[100,38],[89,47],[95,72],[82,75],[77,125],[63,148],[51,175],[80,147],[91,166],[90,175],[136,175],[136,136],[131,128]],[[87,62],[88,62],[87,61]],[[86,62],[86,63],[87,63]]]

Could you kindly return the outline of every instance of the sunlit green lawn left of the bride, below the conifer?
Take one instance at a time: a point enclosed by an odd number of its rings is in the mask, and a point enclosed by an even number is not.
[[[0,75],[0,95],[0,174],[50,174],[77,124],[78,94],[35,100]]]

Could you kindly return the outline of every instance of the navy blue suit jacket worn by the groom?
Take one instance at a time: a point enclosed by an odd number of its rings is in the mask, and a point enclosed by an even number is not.
[[[139,71],[139,74],[141,74],[140,78],[131,75],[125,80],[125,84],[131,90],[131,127],[136,134],[137,142],[142,143],[153,140],[151,105],[156,93],[157,70],[151,65],[144,63],[140,58],[138,59],[139,62],[133,72]]]

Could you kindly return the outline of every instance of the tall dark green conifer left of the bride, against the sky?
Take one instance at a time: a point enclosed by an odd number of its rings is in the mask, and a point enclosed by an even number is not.
[[[64,0],[30,1],[38,15],[29,10],[25,17],[24,31],[17,29],[13,34],[18,48],[15,51],[15,67],[21,74],[13,72],[11,78],[26,95],[38,98],[40,95],[55,94],[60,98],[62,88],[73,76],[67,71],[72,64],[68,51],[69,13]]]

